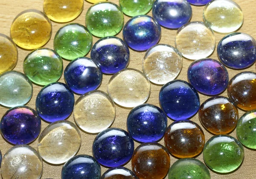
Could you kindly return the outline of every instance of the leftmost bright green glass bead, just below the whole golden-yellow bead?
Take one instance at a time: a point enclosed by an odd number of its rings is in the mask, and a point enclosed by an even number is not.
[[[52,49],[38,48],[26,56],[23,69],[32,82],[38,85],[48,85],[61,77],[62,58]]]

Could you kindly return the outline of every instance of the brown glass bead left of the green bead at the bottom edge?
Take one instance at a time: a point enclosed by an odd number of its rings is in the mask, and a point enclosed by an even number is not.
[[[131,167],[139,179],[163,179],[170,168],[170,156],[163,145],[143,143],[135,149]]]

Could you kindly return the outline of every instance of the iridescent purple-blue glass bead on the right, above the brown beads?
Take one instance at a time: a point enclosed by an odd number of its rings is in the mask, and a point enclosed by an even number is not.
[[[196,60],[189,65],[187,75],[190,84],[206,95],[220,94],[227,88],[227,69],[217,60]]]

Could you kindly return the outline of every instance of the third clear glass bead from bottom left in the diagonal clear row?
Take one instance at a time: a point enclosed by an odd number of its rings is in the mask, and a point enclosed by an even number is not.
[[[79,97],[74,107],[74,119],[79,128],[88,133],[99,133],[113,123],[115,104],[103,91],[90,91]]]

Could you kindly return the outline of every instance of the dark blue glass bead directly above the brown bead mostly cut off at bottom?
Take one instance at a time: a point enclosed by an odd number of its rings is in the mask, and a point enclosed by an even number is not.
[[[131,159],[134,142],[131,135],[119,128],[100,132],[93,141],[93,156],[107,167],[124,165]]]

